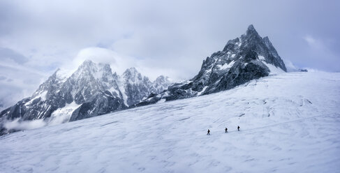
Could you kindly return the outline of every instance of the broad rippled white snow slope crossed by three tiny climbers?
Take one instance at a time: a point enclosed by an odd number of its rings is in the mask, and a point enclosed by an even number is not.
[[[340,73],[281,73],[2,136],[0,172],[339,172],[339,105]]]

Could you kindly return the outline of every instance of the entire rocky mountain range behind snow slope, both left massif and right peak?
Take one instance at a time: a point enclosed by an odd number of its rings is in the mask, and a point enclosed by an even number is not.
[[[216,93],[286,71],[269,38],[260,37],[253,25],[239,38],[229,40],[222,51],[207,57],[198,75],[180,83],[171,84],[163,75],[151,82],[135,68],[119,76],[108,64],[84,61],[70,76],[57,70],[30,98],[3,110],[1,133],[10,130],[3,126],[8,120],[76,121],[129,107]]]

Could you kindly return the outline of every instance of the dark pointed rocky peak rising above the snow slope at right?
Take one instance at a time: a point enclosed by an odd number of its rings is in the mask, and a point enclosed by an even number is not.
[[[250,80],[265,77],[275,70],[286,72],[286,66],[269,38],[261,38],[253,25],[250,25],[245,34],[229,40],[223,51],[207,57],[193,79],[172,84],[168,90],[156,96],[149,96],[138,105],[232,89]]]

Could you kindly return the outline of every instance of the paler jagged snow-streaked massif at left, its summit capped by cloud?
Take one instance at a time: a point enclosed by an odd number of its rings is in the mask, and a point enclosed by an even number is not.
[[[127,69],[119,77],[112,74],[108,64],[84,61],[70,76],[57,70],[30,98],[0,112],[0,128],[3,131],[1,122],[6,120],[52,121],[66,114],[63,122],[67,122],[124,110],[152,92],[163,91],[169,84],[163,76],[150,82],[135,68]]]

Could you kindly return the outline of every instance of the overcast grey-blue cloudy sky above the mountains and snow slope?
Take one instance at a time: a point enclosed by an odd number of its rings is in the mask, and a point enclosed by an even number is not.
[[[253,24],[300,68],[340,71],[340,1],[0,0],[0,104],[84,61],[185,80]],[[0,105],[1,107],[1,105]]]

